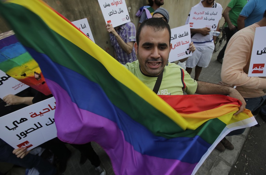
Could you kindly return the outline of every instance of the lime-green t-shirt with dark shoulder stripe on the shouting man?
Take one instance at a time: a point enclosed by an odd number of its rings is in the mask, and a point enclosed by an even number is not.
[[[144,75],[140,71],[138,60],[132,63],[127,63],[124,66],[131,71],[131,73],[136,75],[136,77],[138,77],[151,90],[153,89],[157,76]],[[192,79],[183,68],[174,63],[169,63],[168,66],[164,67],[163,79],[158,95],[183,95],[184,92],[187,94],[194,94],[197,86],[197,81]]]

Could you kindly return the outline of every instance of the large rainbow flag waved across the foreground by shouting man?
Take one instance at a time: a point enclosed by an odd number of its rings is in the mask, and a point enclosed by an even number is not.
[[[227,96],[157,96],[40,0],[0,12],[56,98],[57,136],[97,142],[115,174],[194,174],[226,134],[257,123],[249,110],[233,116],[240,102]]]

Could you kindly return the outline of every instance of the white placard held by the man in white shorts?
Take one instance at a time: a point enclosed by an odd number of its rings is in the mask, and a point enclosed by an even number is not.
[[[222,10],[222,8],[192,7],[188,24],[192,29],[208,27],[211,30],[216,30],[222,17]]]

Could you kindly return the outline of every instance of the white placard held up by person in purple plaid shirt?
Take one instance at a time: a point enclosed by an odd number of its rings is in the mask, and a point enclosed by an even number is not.
[[[105,23],[110,23],[113,27],[130,22],[125,0],[98,0],[102,10]]]

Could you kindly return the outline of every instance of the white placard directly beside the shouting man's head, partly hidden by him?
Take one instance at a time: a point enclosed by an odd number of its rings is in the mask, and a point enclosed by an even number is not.
[[[172,50],[169,53],[169,62],[192,56],[188,49],[191,43],[189,24],[171,29]]]

